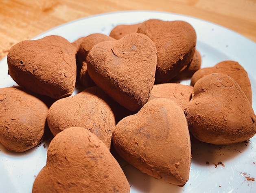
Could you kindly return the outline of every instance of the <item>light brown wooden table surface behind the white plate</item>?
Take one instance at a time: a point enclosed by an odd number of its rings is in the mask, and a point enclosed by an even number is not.
[[[68,21],[125,10],[179,13],[219,24],[256,42],[256,0],[1,0],[0,59],[12,45]]]

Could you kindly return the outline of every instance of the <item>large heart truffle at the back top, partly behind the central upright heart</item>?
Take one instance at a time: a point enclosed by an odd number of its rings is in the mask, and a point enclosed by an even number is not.
[[[155,43],[158,62],[156,83],[166,83],[186,68],[195,54],[197,36],[194,28],[185,21],[149,19],[138,28]]]

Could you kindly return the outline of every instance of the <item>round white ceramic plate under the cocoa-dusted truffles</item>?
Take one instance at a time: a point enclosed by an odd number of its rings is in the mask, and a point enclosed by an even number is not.
[[[202,56],[202,67],[214,66],[223,60],[239,62],[249,74],[256,110],[256,43],[221,26],[199,19],[163,12],[128,11],[96,15],[72,21],[44,34],[63,36],[73,42],[91,33],[109,35],[118,24],[136,24],[150,18],[184,20],[197,32],[197,50]],[[188,84],[188,82],[185,82]],[[7,58],[0,62],[0,88],[13,86],[7,75]],[[49,141],[23,153],[14,153],[0,145],[0,192],[29,193],[35,176],[46,164]],[[118,159],[131,185],[131,193],[244,193],[256,191],[256,137],[241,144],[215,146],[192,137],[190,178],[184,187],[168,184],[142,174],[122,159]]]

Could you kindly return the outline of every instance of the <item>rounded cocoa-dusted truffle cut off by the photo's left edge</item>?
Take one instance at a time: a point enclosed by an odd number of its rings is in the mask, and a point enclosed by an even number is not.
[[[0,88],[0,143],[24,152],[44,137],[48,107],[20,87]]]

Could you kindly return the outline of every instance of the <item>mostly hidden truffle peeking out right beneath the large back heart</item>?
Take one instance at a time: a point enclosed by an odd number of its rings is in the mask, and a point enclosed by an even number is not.
[[[177,76],[175,76],[171,81],[189,79],[193,74],[201,68],[202,58],[199,51],[195,50],[192,61],[188,64],[186,69],[182,70]]]

